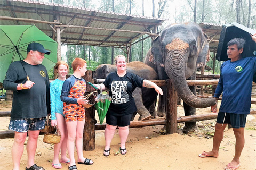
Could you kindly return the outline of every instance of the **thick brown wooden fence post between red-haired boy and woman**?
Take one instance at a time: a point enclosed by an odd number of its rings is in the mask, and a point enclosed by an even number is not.
[[[94,83],[92,79],[92,71],[86,71],[84,75],[86,82]],[[90,86],[86,87],[86,90],[92,92]],[[95,107],[85,108],[85,123],[84,123],[84,135],[83,135],[83,150],[90,151],[95,149]]]

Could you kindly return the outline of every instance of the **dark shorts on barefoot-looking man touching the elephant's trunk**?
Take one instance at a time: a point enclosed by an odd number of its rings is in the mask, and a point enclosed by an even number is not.
[[[225,116],[225,112],[219,112],[217,117],[217,123],[222,124],[224,120],[224,124],[231,124],[232,128],[244,128],[246,123],[246,117],[247,114],[226,113]]]

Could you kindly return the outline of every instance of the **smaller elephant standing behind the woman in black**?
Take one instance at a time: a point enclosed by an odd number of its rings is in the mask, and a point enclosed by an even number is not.
[[[117,71],[116,65],[101,64],[92,72],[93,79],[106,79],[107,75],[114,71]],[[139,61],[127,63],[126,71],[147,80],[157,80],[158,78],[157,73],[151,67]],[[155,111],[157,92],[154,89],[136,88],[132,96],[137,107],[137,112],[133,114],[132,120],[137,113],[140,115],[139,120],[157,118]]]

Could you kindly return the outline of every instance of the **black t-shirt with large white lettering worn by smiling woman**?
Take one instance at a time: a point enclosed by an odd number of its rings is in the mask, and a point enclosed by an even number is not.
[[[127,115],[137,110],[132,92],[137,87],[142,87],[143,80],[136,74],[127,72],[123,77],[119,77],[117,72],[110,73],[103,84],[109,89],[109,96],[112,102],[107,114]]]

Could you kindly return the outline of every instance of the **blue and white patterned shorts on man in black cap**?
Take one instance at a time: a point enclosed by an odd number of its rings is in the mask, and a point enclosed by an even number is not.
[[[27,132],[42,130],[45,126],[45,117],[41,118],[25,118],[25,119],[18,119],[18,120],[10,120],[10,124],[8,129],[13,130],[15,132]]]

